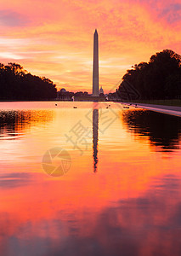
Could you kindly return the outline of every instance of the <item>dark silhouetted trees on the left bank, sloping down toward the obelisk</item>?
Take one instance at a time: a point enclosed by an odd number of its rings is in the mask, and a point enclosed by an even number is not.
[[[0,100],[51,100],[56,93],[50,79],[31,75],[20,64],[0,63]]]

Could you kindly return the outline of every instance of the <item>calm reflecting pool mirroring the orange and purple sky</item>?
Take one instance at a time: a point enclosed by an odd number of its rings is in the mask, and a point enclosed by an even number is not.
[[[181,255],[180,142],[141,108],[0,102],[0,255]]]

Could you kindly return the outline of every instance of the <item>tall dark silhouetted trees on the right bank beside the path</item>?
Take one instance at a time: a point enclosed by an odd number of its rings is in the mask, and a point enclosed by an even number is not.
[[[128,82],[139,91],[141,99],[181,98],[181,55],[164,49],[152,55],[149,62],[135,64],[122,79],[117,90],[121,97]]]

